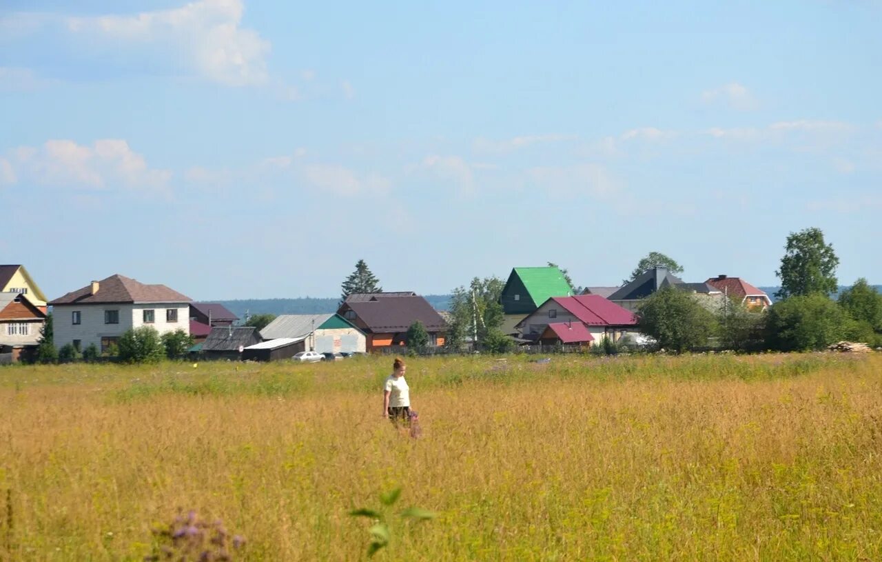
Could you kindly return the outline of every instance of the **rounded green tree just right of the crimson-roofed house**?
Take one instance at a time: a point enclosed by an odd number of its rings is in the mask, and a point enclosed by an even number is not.
[[[714,314],[693,296],[668,286],[640,304],[639,327],[661,348],[682,353],[706,345],[716,323]]]

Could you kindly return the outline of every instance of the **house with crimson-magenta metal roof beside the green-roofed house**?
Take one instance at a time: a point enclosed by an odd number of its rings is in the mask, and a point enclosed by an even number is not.
[[[608,338],[619,341],[637,333],[637,317],[599,295],[552,296],[518,328],[524,337],[543,344],[594,345]]]

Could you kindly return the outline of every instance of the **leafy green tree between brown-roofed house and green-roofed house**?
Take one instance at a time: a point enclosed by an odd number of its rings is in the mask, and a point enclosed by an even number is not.
[[[475,277],[468,287],[460,286],[452,290],[450,314],[452,316],[448,337],[460,338],[451,346],[459,346],[462,339],[475,337],[481,341],[490,330],[502,326],[505,313],[499,297],[505,288],[505,281],[498,277]]]

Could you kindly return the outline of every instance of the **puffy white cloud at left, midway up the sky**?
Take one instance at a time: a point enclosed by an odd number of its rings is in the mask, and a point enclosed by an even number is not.
[[[168,195],[171,172],[147,166],[122,139],[100,139],[92,146],[51,139],[41,147],[19,146],[3,167],[6,177],[39,184],[93,190],[126,189]]]

